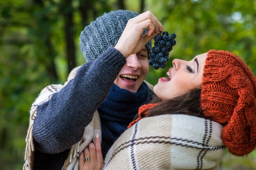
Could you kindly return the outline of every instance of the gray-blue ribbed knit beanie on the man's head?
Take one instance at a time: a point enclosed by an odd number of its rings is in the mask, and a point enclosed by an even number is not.
[[[137,15],[139,14],[127,10],[111,11],[85,26],[79,40],[86,62],[99,57],[108,47],[115,46],[128,20]],[[150,52],[151,41],[145,47]]]

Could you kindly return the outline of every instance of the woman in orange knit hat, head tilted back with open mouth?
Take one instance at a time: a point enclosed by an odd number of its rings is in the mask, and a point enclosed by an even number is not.
[[[159,99],[139,108],[104,169],[216,170],[225,147],[236,156],[254,150],[256,78],[239,57],[210,50],[191,61],[174,59],[167,74],[154,87]],[[90,162],[80,155],[80,170],[97,164],[94,150],[85,150]]]

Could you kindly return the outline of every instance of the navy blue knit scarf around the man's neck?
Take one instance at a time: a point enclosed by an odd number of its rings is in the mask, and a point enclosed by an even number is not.
[[[139,107],[149,99],[150,94],[145,82],[136,93],[112,85],[107,98],[98,108],[104,142],[112,144],[127,129]]]

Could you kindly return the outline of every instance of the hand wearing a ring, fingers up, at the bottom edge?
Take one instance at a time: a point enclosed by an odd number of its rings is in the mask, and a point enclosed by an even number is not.
[[[89,148],[85,148],[84,152],[79,155],[79,170],[102,170],[103,164],[101,143],[97,134],[95,146],[93,143],[90,143]]]

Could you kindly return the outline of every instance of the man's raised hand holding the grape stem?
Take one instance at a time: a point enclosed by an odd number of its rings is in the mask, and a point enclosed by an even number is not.
[[[144,29],[148,29],[146,35],[141,36]],[[150,11],[141,13],[137,17],[130,19],[119,38],[115,48],[124,57],[139,52],[157,33],[164,31],[164,27]]]

